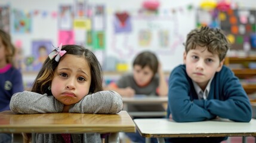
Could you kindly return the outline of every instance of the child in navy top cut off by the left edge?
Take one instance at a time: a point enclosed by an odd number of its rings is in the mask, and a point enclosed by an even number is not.
[[[0,29],[0,112],[10,110],[11,96],[24,90],[22,75],[14,67],[14,54],[11,36]],[[1,142],[11,142],[11,134],[0,133]]]

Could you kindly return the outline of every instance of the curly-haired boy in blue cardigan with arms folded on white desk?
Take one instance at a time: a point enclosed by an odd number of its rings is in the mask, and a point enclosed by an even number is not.
[[[169,76],[167,114],[175,122],[217,117],[249,122],[251,105],[232,70],[223,66],[229,42],[220,29],[201,27],[187,35],[184,64]],[[226,137],[166,138],[166,142],[221,142]]]

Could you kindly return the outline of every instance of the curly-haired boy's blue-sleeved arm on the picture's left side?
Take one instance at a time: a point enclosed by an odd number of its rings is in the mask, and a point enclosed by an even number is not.
[[[216,116],[190,100],[190,83],[185,70],[173,70],[169,77],[168,105],[176,122],[196,122]]]

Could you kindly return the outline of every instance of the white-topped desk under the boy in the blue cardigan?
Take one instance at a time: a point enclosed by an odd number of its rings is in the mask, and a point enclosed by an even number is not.
[[[217,137],[217,136],[256,136],[256,119],[249,123],[218,119],[203,122],[177,123],[168,119],[134,119],[141,136],[165,137]]]

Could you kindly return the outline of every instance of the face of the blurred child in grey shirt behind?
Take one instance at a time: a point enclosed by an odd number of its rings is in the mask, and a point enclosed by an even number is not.
[[[138,86],[145,86],[150,82],[154,73],[149,68],[149,66],[145,66],[143,69],[141,66],[135,64],[133,67],[133,77]]]

